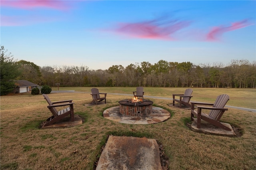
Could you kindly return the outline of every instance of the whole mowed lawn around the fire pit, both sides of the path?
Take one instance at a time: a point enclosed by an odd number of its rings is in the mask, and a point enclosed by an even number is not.
[[[109,93],[107,104],[84,106],[92,100],[90,89],[60,87],[59,90],[82,93],[48,94],[52,101],[75,102],[75,115],[80,115],[84,122],[68,128],[39,128],[51,116],[42,95],[1,96],[0,169],[93,170],[108,135],[156,139],[169,169],[256,169],[256,113],[229,108],[221,121],[239,128],[242,136],[215,136],[190,130],[186,125],[190,123],[190,110],[169,107],[171,100],[145,97],[154,101],[155,106],[170,111],[172,117],[151,125],[122,124],[104,119],[102,112],[118,105],[121,99],[130,99],[136,87],[99,87],[100,92]],[[172,94],[183,93],[185,89],[144,87],[144,95],[172,98]],[[212,103],[220,94],[230,96],[227,105],[256,109],[255,89],[193,88],[191,100]]]

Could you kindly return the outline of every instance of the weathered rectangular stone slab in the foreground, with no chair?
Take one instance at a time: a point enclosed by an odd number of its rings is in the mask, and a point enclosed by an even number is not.
[[[155,139],[109,136],[96,170],[162,170]]]

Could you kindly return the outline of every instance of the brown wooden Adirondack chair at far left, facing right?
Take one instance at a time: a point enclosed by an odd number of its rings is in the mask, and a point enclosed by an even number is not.
[[[43,96],[44,96],[44,99],[46,99],[47,103],[49,104],[47,106],[48,109],[52,113],[52,116],[46,120],[46,123],[44,123],[43,126],[52,125],[53,123],[59,121],[60,119],[66,116],[70,116],[70,121],[74,122],[74,107],[73,107],[74,102],[72,102],[72,100],[52,102],[46,94],[43,94]],[[69,106],[69,107],[61,111],[57,111],[56,107],[63,107],[63,106]]]

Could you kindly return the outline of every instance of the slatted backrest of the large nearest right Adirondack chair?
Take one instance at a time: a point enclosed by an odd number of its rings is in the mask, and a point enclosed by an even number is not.
[[[229,100],[229,96],[226,94],[219,95],[214,102],[212,107],[217,107],[217,108],[224,108],[224,106],[227,104]],[[220,110],[211,110],[209,113],[209,116],[215,119],[216,121],[219,121],[220,118],[222,117],[224,111]]]

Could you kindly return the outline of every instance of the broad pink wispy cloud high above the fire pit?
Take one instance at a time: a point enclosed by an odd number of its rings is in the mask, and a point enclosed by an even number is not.
[[[119,23],[114,32],[135,38],[174,40],[174,34],[189,25],[187,21],[161,17],[146,22]]]

